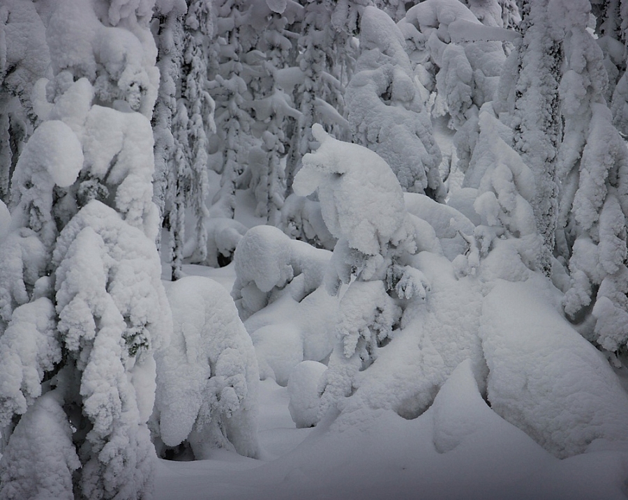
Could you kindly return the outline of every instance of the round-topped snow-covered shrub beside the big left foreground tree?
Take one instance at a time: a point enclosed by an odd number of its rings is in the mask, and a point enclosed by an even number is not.
[[[187,440],[199,460],[215,448],[257,456],[257,361],[229,294],[190,276],[167,296],[174,329],[156,356],[158,437],[166,446]]]

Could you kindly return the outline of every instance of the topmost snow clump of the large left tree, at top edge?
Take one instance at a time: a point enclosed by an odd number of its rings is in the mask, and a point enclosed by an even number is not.
[[[121,110],[151,116],[159,82],[157,49],[146,29],[154,1],[63,0],[43,11],[52,70],[48,91],[61,95],[73,79],[87,77],[96,96]]]

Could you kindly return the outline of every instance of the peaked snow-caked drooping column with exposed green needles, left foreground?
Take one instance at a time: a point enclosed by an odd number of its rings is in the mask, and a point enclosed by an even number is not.
[[[55,299],[66,356],[80,370],[86,437],[86,497],[138,497],[153,479],[147,420],[154,403],[153,354],[172,329],[159,257],[147,236],[96,200],[57,238]]]

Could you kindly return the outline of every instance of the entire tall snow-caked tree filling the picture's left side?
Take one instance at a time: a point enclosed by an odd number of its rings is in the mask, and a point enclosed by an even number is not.
[[[151,201],[151,5],[64,0],[39,13],[52,73],[34,95],[41,124],[15,166],[0,252],[12,367],[0,372],[1,496],[146,498],[153,355],[170,331]]]

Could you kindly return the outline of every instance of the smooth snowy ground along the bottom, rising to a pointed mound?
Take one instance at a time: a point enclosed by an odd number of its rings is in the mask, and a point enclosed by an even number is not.
[[[185,266],[230,287],[232,266]],[[159,460],[156,500],[626,499],[628,450],[559,460],[482,399],[470,363],[454,370],[413,420],[371,411],[366,425],[297,429],[287,388],[260,382],[260,460],[216,450],[209,460]]]

